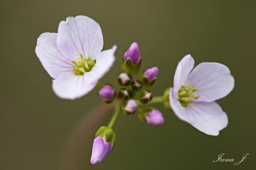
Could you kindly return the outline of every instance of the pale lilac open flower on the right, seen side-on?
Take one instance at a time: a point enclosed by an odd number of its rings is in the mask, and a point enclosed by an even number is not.
[[[181,120],[205,134],[217,136],[227,127],[228,118],[214,101],[231,92],[234,78],[223,64],[202,62],[193,69],[194,64],[191,55],[180,60],[170,89],[170,105]]]

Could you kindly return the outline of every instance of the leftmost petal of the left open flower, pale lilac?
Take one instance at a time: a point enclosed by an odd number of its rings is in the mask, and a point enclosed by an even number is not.
[[[73,69],[71,60],[66,59],[57,48],[57,33],[46,32],[37,39],[36,55],[52,78]]]

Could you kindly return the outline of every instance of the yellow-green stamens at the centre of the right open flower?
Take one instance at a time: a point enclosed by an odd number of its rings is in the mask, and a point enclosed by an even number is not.
[[[179,96],[179,102],[183,107],[187,107],[189,103],[191,103],[192,98],[197,100],[200,96],[194,96],[193,93],[195,91],[198,91],[198,88],[195,87],[194,89],[191,90],[191,88],[188,86],[181,86],[179,91],[178,91],[178,96]]]

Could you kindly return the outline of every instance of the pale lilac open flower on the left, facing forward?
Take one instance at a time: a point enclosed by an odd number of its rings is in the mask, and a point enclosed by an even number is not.
[[[54,79],[58,97],[76,99],[90,92],[115,61],[116,46],[102,51],[100,25],[84,16],[61,21],[58,33],[39,36],[36,55]]]

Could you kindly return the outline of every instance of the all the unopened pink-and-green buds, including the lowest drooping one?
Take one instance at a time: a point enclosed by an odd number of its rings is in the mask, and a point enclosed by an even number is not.
[[[117,93],[113,89],[112,85],[104,85],[99,90],[99,96],[106,103],[112,103],[115,98],[122,104],[121,108],[124,115],[134,115],[136,111],[140,111],[138,117],[142,122],[147,122],[154,126],[164,123],[163,115],[160,111],[154,108],[141,109],[139,104],[144,105],[149,103],[152,99],[152,93],[143,89],[143,87],[149,88],[154,85],[158,68],[151,67],[146,69],[140,74],[140,80],[132,80],[133,74],[137,74],[140,71],[141,56],[140,48],[137,43],[132,43],[122,59],[122,69],[124,72],[118,75],[118,89]],[[111,151],[115,143],[115,133],[108,127],[100,127],[97,131],[92,152],[92,164],[100,162]]]

